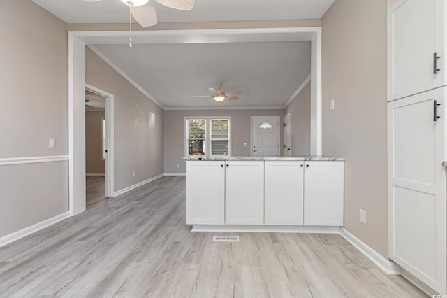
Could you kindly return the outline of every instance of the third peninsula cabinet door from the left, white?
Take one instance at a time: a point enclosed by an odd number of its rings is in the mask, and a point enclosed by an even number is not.
[[[265,162],[265,225],[302,225],[304,162]]]

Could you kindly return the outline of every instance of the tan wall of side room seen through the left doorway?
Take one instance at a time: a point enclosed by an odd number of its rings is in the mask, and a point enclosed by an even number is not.
[[[85,111],[85,172],[105,173],[102,118],[104,111]]]

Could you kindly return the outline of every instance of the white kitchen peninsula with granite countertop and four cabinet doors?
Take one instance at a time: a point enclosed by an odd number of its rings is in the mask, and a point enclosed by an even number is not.
[[[338,232],[344,159],[185,157],[193,231]]]

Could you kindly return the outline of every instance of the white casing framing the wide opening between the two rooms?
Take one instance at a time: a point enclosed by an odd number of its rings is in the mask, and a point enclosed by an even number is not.
[[[85,140],[85,122],[82,121],[82,114],[85,113],[85,45],[126,44],[126,34],[126,31],[68,32],[68,197],[72,216],[85,211],[85,208],[82,208],[82,205],[85,205],[85,168],[77,166],[85,164],[85,146],[82,146],[82,140]],[[220,39],[223,37],[228,42],[237,42],[242,35],[248,38],[258,36],[261,41],[270,41],[285,34],[288,36],[286,41],[311,41],[311,154],[321,155],[321,27],[149,30],[140,31],[141,39],[134,43],[194,43],[195,36],[210,36],[200,42],[213,42],[216,36],[221,36]],[[110,66],[126,78],[125,73],[117,69],[117,66]],[[147,94],[133,80],[126,79]]]

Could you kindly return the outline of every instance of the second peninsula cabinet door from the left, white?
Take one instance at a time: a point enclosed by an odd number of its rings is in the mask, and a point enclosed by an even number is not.
[[[226,162],[225,223],[263,225],[264,162]]]

